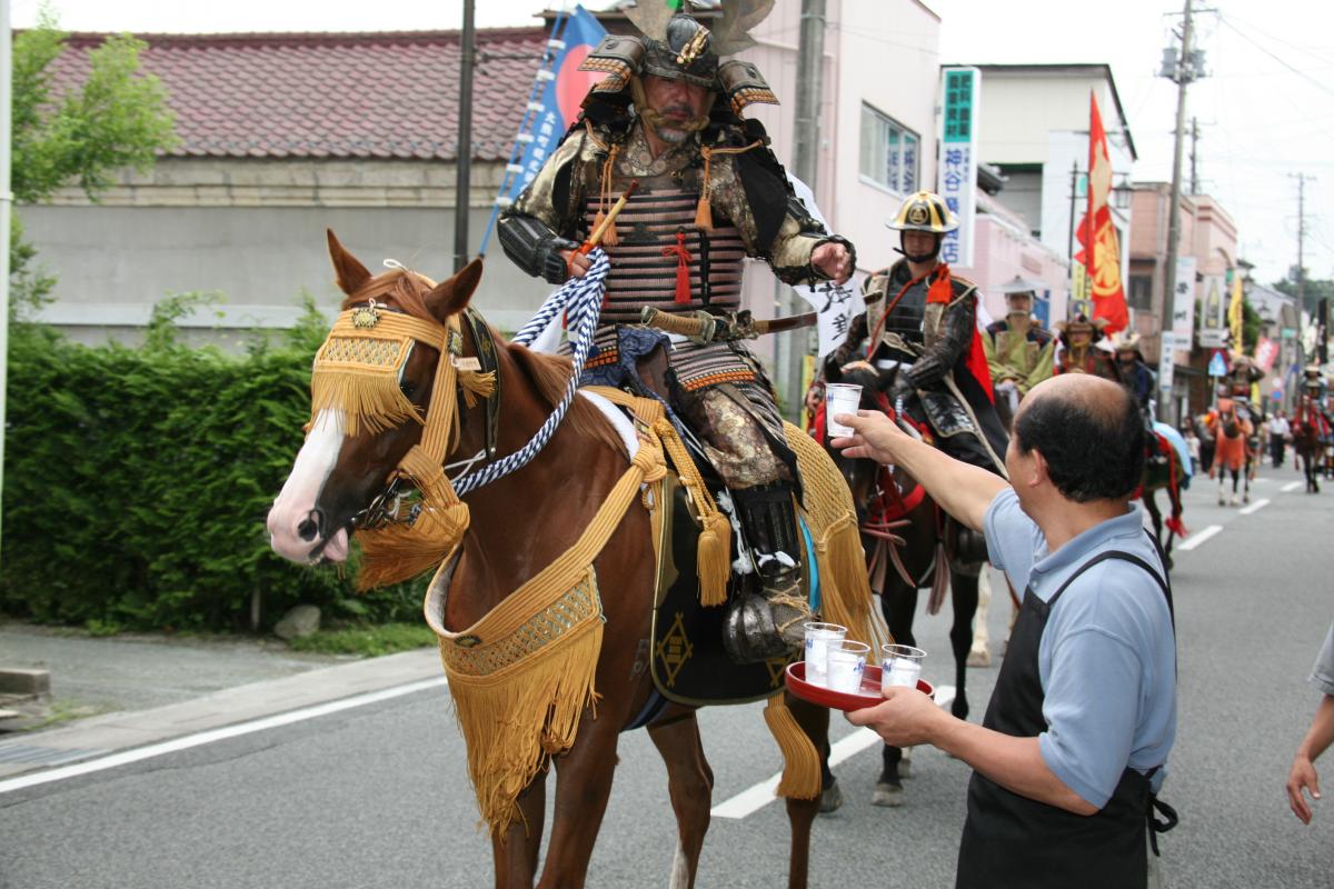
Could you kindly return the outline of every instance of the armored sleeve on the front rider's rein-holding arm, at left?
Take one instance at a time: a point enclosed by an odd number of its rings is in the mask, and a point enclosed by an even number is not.
[[[496,224],[506,256],[551,284],[570,277],[562,252],[578,247],[572,239],[583,205],[584,140],[583,131],[567,136]]]

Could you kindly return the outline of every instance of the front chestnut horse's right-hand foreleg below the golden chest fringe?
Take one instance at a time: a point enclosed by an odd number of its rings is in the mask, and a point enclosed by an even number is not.
[[[555,816],[538,889],[582,889],[584,885],[594,841],[611,796],[616,740],[623,724],[623,713],[603,712],[596,720],[586,713],[579,722],[578,741],[556,758]]]

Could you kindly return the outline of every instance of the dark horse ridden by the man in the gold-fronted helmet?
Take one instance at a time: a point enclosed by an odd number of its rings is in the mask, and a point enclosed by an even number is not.
[[[854,361],[843,368],[830,368],[827,377],[828,383],[860,385],[862,409],[891,412],[887,392],[894,383],[894,371],[878,372],[866,361]],[[964,681],[968,649],[972,648],[972,617],[978,610],[978,576],[983,562],[962,561],[958,557],[959,525],[902,468],[882,466],[867,458],[848,458],[834,450],[831,454],[852,490],[871,589],[880,596],[880,610],[894,641],[916,645],[912,620],[919,588],[931,588],[928,613],[940,608],[946,589],[950,590],[954,608],[950,648],[954,652],[955,685],[950,712],[960,720],[967,718],[968,696]],[[902,748],[884,746],[880,776],[872,796],[875,805],[902,805]]]

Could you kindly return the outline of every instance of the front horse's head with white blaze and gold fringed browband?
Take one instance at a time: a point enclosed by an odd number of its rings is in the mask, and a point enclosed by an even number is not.
[[[459,316],[482,277],[480,260],[440,284],[404,268],[372,276],[332,231],[328,247],[347,299],[315,359],[305,443],[267,521],[273,550],[305,564],[346,560],[355,530],[396,517],[424,439],[458,448],[456,400],[432,396],[459,377]]]

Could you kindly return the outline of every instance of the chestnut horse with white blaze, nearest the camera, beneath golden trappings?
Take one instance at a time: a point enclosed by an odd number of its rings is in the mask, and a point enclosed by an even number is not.
[[[328,240],[338,285],[347,295],[344,309],[368,305],[370,311],[403,312],[443,328],[468,307],[482,273],[480,260],[475,260],[435,287],[403,269],[372,276],[332,232]],[[468,325],[463,328],[458,367],[466,367],[479,355]],[[500,456],[519,450],[552,412],[570,379],[571,364],[498,337],[495,341],[499,345],[492,349],[499,400],[495,453]],[[487,446],[487,401],[466,399],[459,391],[434,392],[439,360],[438,349],[416,343],[403,365],[399,388],[423,416],[454,399],[456,441],[450,460],[482,454]],[[273,549],[307,564],[346,558],[350,533],[376,512],[371,504],[383,501],[386,480],[422,439],[419,423],[402,423],[379,432],[363,423],[355,435],[346,435],[344,415],[321,411],[268,516]],[[463,534],[452,594],[444,604],[444,626],[451,632],[472,626],[511,590],[570,549],[627,465],[624,444],[612,425],[588,400],[575,399],[564,421],[531,462],[467,494],[471,525]],[[651,638],[655,561],[650,513],[635,497],[594,561],[598,585],[606,593],[602,601],[606,633],[595,674],[596,712],[586,708],[572,746],[544,760],[544,765],[555,765],[558,778],[539,886],[584,885],[611,792],[618,737],[644,710],[654,692],[640,653]],[[827,749],[828,710],[795,698],[788,705],[816,749]],[[692,886],[714,784],[695,710],[670,705],[647,728],[667,765],[678,822],[671,885]],[[492,830],[496,886],[534,885],[544,826],[546,776],[546,769],[539,770],[519,794],[522,817],[503,833]],[[819,800],[786,802],[791,822],[788,886],[800,888],[807,881],[810,832]]]

